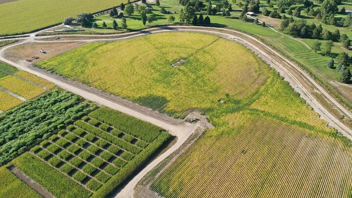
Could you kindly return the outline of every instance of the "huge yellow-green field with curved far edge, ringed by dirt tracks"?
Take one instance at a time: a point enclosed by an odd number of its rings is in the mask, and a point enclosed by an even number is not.
[[[175,117],[207,114],[215,128],[152,183],[161,196],[350,196],[352,142],[236,42],[160,33],[87,44],[38,66]]]

